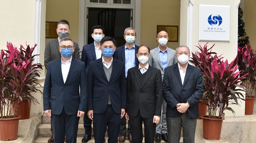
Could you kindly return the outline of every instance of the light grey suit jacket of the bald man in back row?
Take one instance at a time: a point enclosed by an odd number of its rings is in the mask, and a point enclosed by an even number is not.
[[[148,59],[148,64],[151,65],[154,68],[160,69],[161,70],[161,74],[162,74],[162,79],[163,79],[163,67],[161,64],[161,60],[160,60],[160,56],[159,56],[159,51],[158,51],[158,47],[154,48],[150,51],[150,58]],[[167,47],[167,55],[168,55],[168,60],[167,60],[167,66],[169,67],[173,64],[176,64],[178,61],[175,57],[175,50],[168,48]]]

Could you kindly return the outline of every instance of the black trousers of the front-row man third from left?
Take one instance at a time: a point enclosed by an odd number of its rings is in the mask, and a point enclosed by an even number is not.
[[[156,124],[153,123],[153,118],[142,118],[139,111],[135,117],[129,116],[129,120],[133,143],[142,143],[142,122],[144,123],[145,143],[154,143]]]

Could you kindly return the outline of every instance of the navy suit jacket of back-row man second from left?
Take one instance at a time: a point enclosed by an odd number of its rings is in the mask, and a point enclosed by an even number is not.
[[[94,48],[94,42],[83,46],[82,61],[85,63],[86,72],[88,73],[89,65],[92,61],[95,61],[96,53]]]

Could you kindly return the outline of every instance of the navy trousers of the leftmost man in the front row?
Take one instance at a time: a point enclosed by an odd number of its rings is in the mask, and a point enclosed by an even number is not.
[[[67,115],[63,108],[60,115],[52,114],[51,118],[54,143],[64,143],[65,133],[68,143],[76,143],[80,117],[77,115]]]

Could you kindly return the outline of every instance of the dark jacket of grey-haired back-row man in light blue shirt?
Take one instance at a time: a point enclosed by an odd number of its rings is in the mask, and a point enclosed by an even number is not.
[[[124,45],[116,48],[116,51],[114,52],[113,57],[116,58],[117,60],[123,61],[125,63],[125,52],[124,52],[125,49],[124,49]],[[136,53],[138,53],[138,47],[139,46],[135,45],[135,65],[136,66],[139,65],[139,61],[138,61],[138,58],[136,56]]]

